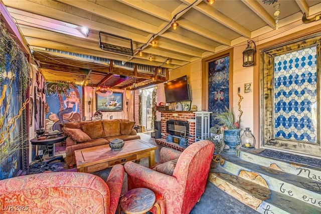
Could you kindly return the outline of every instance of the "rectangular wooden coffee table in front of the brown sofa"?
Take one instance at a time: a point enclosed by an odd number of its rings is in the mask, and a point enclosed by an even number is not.
[[[90,173],[143,157],[149,158],[150,167],[155,164],[156,148],[142,140],[129,140],[119,151],[112,151],[108,144],[79,149],[75,151],[77,171]]]

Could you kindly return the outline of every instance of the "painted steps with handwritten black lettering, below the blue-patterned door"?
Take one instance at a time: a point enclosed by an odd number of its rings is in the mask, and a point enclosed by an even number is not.
[[[223,152],[209,180],[261,213],[321,213],[321,168],[255,152],[239,155]]]

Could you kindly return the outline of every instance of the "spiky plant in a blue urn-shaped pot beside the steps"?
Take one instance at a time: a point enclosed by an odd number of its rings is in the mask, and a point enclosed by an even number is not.
[[[214,115],[215,127],[223,134],[224,143],[230,147],[230,154],[236,154],[235,146],[240,144],[240,121],[235,121],[233,111],[225,108],[225,112]]]

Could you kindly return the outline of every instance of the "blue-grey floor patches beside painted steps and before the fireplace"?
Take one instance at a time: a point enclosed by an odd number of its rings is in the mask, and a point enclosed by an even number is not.
[[[162,148],[155,142],[155,139],[150,137],[150,133],[139,133],[141,140],[149,142],[158,147],[155,150],[155,161],[159,161],[159,150]],[[239,214],[255,214],[259,213],[249,206],[238,201],[234,197],[230,196],[210,181],[207,182],[205,192],[203,193],[201,200],[196,203],[191,214],[227,214],[227,213],[239,213]],[[174,214],[174,213],[173,213]]]

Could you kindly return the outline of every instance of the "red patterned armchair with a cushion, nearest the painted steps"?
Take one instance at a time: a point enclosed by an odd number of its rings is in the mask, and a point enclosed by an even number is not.
[[[162,213],[189,213],[205,190],[213,150],[214,144],[208,140],[191,144],[179,156],[173,175],[129,161],[124,165],[128,190],[137,187],[151,189],[158,201],[165,201],[166,208],[161,209]],[[162,148],[160,160],[175,159],[178,155]],[[155,213],[154,209],[151,211]]]

